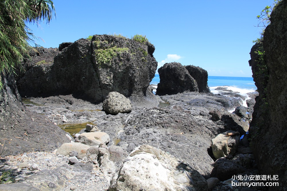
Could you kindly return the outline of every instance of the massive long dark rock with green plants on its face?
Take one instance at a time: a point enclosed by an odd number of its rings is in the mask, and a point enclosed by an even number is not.
[[[24,64],[26,74],[17,80],[22,97],[73,94],[103,101],[112,91],[143,97],[157,67],[152,44],[109,35],[62,43],[58,54],[58,49],[40,50],[31,53],[35,56]],[[56,55],[47,61],[49,52]]]

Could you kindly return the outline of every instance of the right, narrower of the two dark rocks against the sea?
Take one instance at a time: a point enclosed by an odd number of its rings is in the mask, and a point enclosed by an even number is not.
[[[195,79],[198,85],[198,91],[199,92],[210,92],[207,80],[208,80],[208,73],[206,70],[198,67],[198,66],[184,66],[189,74]]]

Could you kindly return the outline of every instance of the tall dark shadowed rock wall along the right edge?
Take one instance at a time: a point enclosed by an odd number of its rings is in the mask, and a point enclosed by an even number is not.
[[[266,66],[256,61],[258,55],[254,52],[260,44],[252,47],[249,61],[259,91],[250,127],[251,146],[261,174],[279,176],[278,181],[274,181],[279,182],[279,186],[268,187],[270,190],[287,189],[287,150],[284,149],[287,147],[286,17],[287,1],[281,1],[273,9],[271,23],[263,35],[263,64]]]

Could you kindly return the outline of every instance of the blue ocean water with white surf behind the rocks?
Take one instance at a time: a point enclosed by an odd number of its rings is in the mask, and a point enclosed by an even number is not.
[[[157,87],[159,82],[160,77],[158,74],[155,74],[155,77],[152,79],[150,84]],[[243,106],[245,107],[247,107],[246,100],[250,99],[247,93],[255,92],[255,90],[257,90],[252,77],[208,76],[207,83],[210,91],[214,94],[219,93],[218,90],[215,90],[217,87],[225,87],[228,90],[239,92],[241,95],[246,97],[246,99],[243,100]],[[155,91],[156,90],[154,90],[154,93]]]

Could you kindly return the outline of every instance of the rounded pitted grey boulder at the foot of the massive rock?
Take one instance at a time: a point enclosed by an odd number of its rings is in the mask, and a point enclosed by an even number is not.
[[[128,113],[131,109],[131,101],[118,92],[110,92],[103,102],[103,110],[110,114]]]

